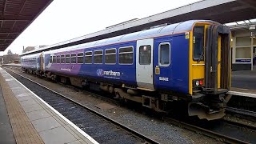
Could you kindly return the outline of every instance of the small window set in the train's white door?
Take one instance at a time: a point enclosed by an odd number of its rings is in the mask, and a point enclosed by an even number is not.
[[[140,65],[150,65],[151,64],[151,46],[139,46],[139,59]]]

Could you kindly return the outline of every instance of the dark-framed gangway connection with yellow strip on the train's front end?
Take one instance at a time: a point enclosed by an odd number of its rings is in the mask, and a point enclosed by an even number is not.
[[[211,94],[230,90],[230,30],[208,26],[206,36],[206,89]]]

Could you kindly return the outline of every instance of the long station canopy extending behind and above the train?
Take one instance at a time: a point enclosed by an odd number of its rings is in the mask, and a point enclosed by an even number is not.
[[[256,1],[254,0],[202,0],[146,18],[134,19],[133,21],[108,26],[106,30],[86,34],[79,38],[46,46],[41,50],[34,50],[25,54],[34,53],[36,51],[58,49],[64,46],[73,46],[103,38],[111,38],[122,34],[145,30],[151,26],[163,23],[170,24],[191,19],[210,19],[224,24],[253,18],[256,18]]]

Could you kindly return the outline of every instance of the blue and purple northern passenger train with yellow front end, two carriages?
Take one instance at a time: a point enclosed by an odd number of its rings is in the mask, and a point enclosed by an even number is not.
[[[25,72],[103,90],[157,112],[182,102],[188,115],[214,120],[225,115],[230,99],[230,39],[227,26],[190,20],[22,54],[21,66]]]

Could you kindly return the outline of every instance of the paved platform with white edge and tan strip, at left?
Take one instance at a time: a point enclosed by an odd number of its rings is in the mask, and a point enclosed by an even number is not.
[[[0,67],[0,143],[98,143]]]

